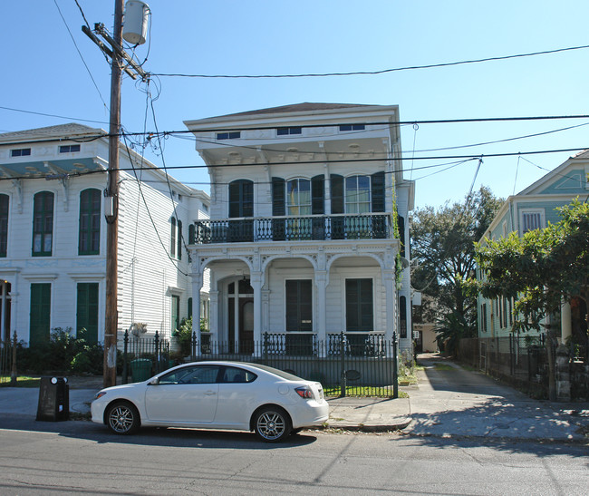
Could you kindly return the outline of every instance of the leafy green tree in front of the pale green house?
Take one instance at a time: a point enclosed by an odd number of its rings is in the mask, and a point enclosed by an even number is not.
[[[562,303],[589,297],[589,204],[575,200],[558,209],[562,219],[546,229],[511,233],[477,248],[479,282],[484,297],[513,297],[515,329],[546,328],[548,394],[555,399],[553,346],[556,329],[551,317]]]

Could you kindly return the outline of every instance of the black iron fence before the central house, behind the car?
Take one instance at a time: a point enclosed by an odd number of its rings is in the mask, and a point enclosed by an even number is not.
[[[199,351],[199,353],[198,353]],[[397,339],[382,335],[269,334],[260,342],[228,342],[196,333],[193,361],[237,360],[269,365],[304,379],[319,381],[326,394],[398,397]]]

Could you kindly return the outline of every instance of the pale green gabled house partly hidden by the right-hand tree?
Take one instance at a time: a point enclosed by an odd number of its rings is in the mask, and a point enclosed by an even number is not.
[[[506,238],[510,232],[523,236],[528,230],[544,229],[548,222],[555,224],[561,218],[558,207],[574,199],[586,201],[589,197],[589,151],[566,160],[555,170],[536,180],[515,196],[510,196],[497,212],[481,242],[485,239]],[[478,271],[478,277],[483,277]],[[478,296],[478,336],[509,336],[513,326],[513,301],[506,297],[493,300]],[[561,340],[569,337],[586,344],[584,316],[587,306],[581,298],[573,298],[561,308]]]

